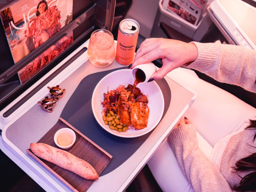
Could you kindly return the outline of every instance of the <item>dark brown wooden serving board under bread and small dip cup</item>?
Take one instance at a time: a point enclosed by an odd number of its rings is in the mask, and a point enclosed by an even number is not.
[[[58,122],[37,142],[45,143],[53,147],[59,148],[53,140],[55,132],[61,128],[73,129],[76,133],[76,141],[74,145],[69,149],[62,149],[68,151],[69,153],[77,156],[80,159],[88,162],[93,166],[96,172],[100,173],[107,167],[112,156],[108,154],[105,150],[100,148],[92,140],[79,132],[75,127],[70,125],[64,119],[60,117]],[[29,155],[33,156],[39,163],[44,165],[49,171],[51,171],[56,177],[58,177],[62,182],[64,182],[69,188],[76,192],[86,191],[94,182],[94,180],[87,180],[79,175],[63,169],[58,165],[52,164],[44,159],[35,156],[30,149],[27,149]]]

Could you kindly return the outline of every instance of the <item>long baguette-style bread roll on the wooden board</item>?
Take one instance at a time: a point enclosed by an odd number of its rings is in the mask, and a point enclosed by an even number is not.
[[[67,151],[44,143],[31,143],[30,149],[36,156],[56,164],[63,169],[74,172],[85,179],[96,180],[99,178],[98,173],[92,165]]]

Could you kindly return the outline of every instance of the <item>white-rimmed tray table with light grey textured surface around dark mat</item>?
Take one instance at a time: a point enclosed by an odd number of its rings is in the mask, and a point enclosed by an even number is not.
[[[28,101],[20,106],[7,118],[3,117],[5,111],[12,107],[14,103],[19,101],[28,92],[33,90],[40,82],[43,82],[53,71],[63,65],[84,47],[88,47],[89,39],[82,44],[76,51],[70,54],[59,65],[53,68],[49,73],[42,77],[36,84],[30,87],[20,97],[14,100],[10,105],[0,111],[0,129],[2,137],[0,137],[0,148],[14,161],[21,169],[23,169],[33,180],[35,180],[46,191],[72,191],[68,186],[61,182],[56,176],[49,172],[45,167],[39,164],[35,159],[29,157],[26,149],[29,144],[37,142],[52,126],[58,121],[60,114],[68,102],[69,98],[76,90],[80,81],[87,75],[106,71],[114,68],[124,67],[113,62],[107,68],[96,68],[88,60],[87,51],[79,56],[72,64],[65,68],[60,74],[54,77],[45,87],[33,95]],[[168,77],[166,77],[168,78]],[[182,78],[182,77],[181,77]],[[90,82],[88,82],[90,83]],[[38,101],[49,95],[47,86],[56,86],[65,88],[67,91],[63,97],[54,106],[53,113],[46,113],[38,106]],[[168,121],[163,120],[158,124],[158,129],[153,131],[141,146],[130,156],[123,164],[115,170],[100,176],[88,191],[124,191],[127,186],[136,177],[138,172],[148,162],[149,158],[154,154],[158,146],[164,141],[171,132],[174,125],[180,117],[192,105],[196,99],[196,92],[187,87],[181,86],[168,78],[168,84],[171,90],[171,101],[166,115]],[[82,97],[81,97],[82,98]],[[32,114],[32,115],[29,115]],[[29,116],[28,116],[29,115]],[[24,117],[30,126],[24,126]],[[31,117],[31,118],[29,118]],[[94,118],[94,117],[92,117]],[[12,126],[15,122],[21,122],[20,126]],[[31,124],[35,125],[34,127]],[[11,129],[10,129],[11,127]],[[9,128],[9,129],[8,129]],[[32,135],[31,132],[33,132]],[[127,139],[127,138],[125,138]],[[97,143],[96,143],[97,144]],[[100,146],[101,147],[101,146]],[[103,148],[104,149],[104,148]],[[107,151],[108,152],[108,151]],[[110,154],[111,155],[111,154]],[[113,156],[115,158],[115,156]],[[113,180],[113,178],[118,178]]]

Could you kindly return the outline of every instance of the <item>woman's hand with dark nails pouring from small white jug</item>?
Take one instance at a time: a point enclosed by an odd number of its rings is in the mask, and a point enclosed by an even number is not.
[[[163,67],[158,69],[151,78],[162,79],[167,73],[198,56],[197,47],[193,43],[185,43],[173,39],[150,38],[140,45],[132,67],[162,58]]]

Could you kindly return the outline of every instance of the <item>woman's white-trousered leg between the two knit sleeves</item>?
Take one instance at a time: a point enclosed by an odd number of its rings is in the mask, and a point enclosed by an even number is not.
[[[184,115],[212,147],[226,135],[244,129],[249,119],[256,115],[256,108],[200,79],[191,69],[177,68],[167,76],[197,93],[196,100]]]

